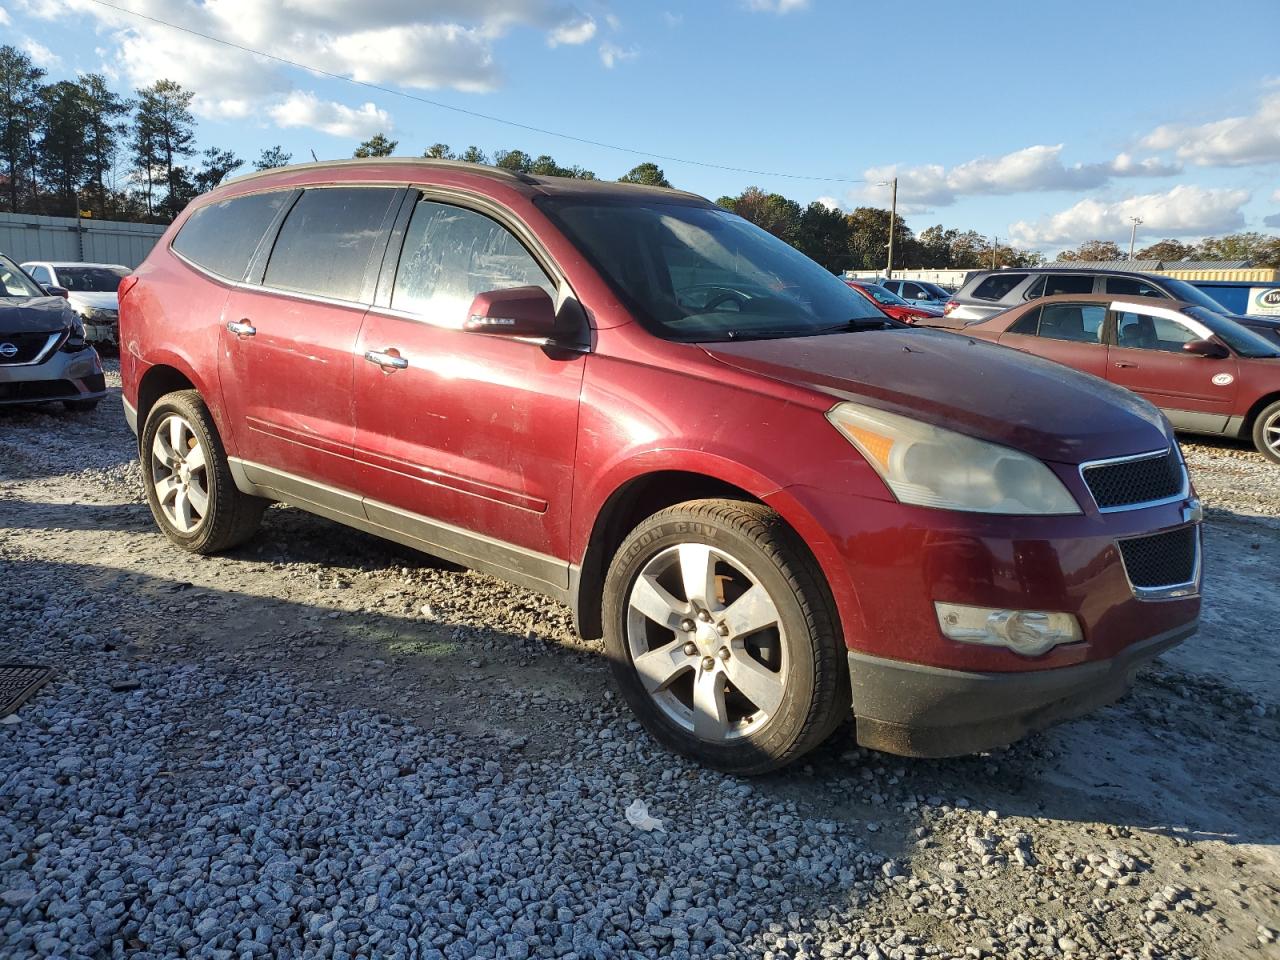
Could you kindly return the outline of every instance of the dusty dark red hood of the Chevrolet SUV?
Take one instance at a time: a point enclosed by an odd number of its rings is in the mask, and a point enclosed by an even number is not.
[[[1079,463],[1167,447],[1164,415],[1087,374],[940,330],[701,344],[712,357],[837,399]]]

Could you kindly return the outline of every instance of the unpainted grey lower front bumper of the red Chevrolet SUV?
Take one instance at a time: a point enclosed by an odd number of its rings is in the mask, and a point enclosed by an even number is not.
[[[902,756],[957,756],[1004,746],[1120,699],[1152,658],[1198,618],[1102,660],[1024,673],[975,673],[851,650],[858,742]]]

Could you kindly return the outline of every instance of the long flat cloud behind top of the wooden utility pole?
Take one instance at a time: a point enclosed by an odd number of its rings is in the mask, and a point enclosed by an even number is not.
[[[968,160],[950,169],[941,164],[887,165],[868,168],[863,175],[872,184],[867,188],[869,198],[884,202],[888,188],[878,184],[897,177],[899,200],[927,207],[947,206],[961,196],[972,195],[1092,189],[1115,177],[1167,177],[1180,169],[1157,159],[1135,160],[1129,154],[1105,163],[1068,166],[1061,155],[1061,143],[1038,143],[1004,156]]]

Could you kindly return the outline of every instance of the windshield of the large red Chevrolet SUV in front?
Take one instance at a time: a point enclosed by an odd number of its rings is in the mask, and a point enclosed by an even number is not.
[[[844,280],[727,210],[576,197],[539,205],[664,339],[804,337],[859,321],[899,326]]]

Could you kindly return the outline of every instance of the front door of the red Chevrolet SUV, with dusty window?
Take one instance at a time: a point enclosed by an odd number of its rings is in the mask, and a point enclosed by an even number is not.
[[[374,522],[563,586],[586,358],[461,329],[484,291],[570,296],[498,215],[447,195],[404,205],[356,349],[361,489]]]

